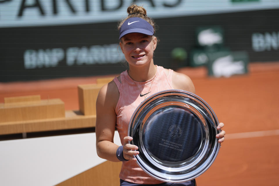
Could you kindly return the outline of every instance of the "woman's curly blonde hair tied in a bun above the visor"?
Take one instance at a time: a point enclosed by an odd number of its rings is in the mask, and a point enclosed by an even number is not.
[[[147,21],[149,24],[151,24],[151,26],[153,26],[154,33],[155,33],[155,30],[157,30],[158,26],[155,24],[153,19],[151,19],[150,17],[147,17],[146,10],[142,6],[137,6],[137,5],[133,4],[127,8],[127,13],[128,13],[128,16],[125,19],[122,19],[121,21],[118,22],[118,24],[117,24],[118,30],[120,29],[122,24],[131,17],[140,17],[140,18],[144,19],[145,21]]]

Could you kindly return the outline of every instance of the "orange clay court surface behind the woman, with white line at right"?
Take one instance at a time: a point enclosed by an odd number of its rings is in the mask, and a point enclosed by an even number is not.
[[[196,94],[225,123],[226,140],[213,165],[196,179],[199,186],[278,185],[279,62],[251,63],[248,70],[209,78],[203,67],[178,69],[192,78]],[[78,110],[77,85],[96,83],[99,77],[0,83],[0,103],[4,97],[40,94],[60,98],[66,110]]]

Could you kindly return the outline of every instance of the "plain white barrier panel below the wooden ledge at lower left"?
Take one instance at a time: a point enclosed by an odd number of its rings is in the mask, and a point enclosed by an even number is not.
[[[0,185],[56,185],[105,161],[95,133],[0,141]]]

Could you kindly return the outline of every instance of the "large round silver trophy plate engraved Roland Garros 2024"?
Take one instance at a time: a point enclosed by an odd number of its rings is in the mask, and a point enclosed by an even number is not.
[[[129,143],[138,146],[137,164],[150,176],[170,183],[192,180],[214,162],[220,144],[219,121],[199,96],[165,90],[149,96],[131,117]]]

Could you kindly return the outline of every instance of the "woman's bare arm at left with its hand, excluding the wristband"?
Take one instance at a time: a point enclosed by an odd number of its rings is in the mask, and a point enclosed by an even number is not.
[[[96,101],[96,148],[100,158],[119,162],[116,151],[119,147],[113,143],[116,124],[115,107],[119,99],[119,92],[114,82],[104,85],[99,91]],[[124,137],[123,156],[126,160],[136,161],[133,154],[138,154],[138,147],[129,144],[132,137]],[[133,149],[133,150],[131,150]]]

